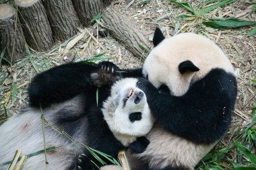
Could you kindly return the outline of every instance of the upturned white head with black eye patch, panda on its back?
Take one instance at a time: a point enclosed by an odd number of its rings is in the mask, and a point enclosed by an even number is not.
[[[126,78],[111,87],[102,113],[110,130],[125,146],[145,136],[154,124],[146,95],[137,87],[138,79]]]

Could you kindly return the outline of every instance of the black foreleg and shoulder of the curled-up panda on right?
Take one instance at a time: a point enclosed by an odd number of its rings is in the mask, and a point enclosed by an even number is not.
[[[187,93],[175,97],[158,93],[145,79],[139,87],[146,93],[150,109],[163,128],[198,144],[219,140],[228,130],[236,100],[236,78],[213,69],[195,82]]]

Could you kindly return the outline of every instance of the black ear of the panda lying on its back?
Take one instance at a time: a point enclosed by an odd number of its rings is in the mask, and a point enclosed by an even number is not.
[[[148,138],[146,138],[145,136],[141,136],[137,138],[137,140],[132,142],[129,145],[129,148],[131,148],[131,151],[133,151],[134,153],[143,153],[148,147],[148,144],[150,144],[150,140],[148,140]]]

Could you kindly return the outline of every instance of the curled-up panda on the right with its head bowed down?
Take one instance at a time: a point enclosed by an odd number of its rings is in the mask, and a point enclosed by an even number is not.
[[[143,69],[121,70],[140,79],[156,124],[140,154],[129,153],[133,170],[194,169],[222,139],[236,101],[236,77],[224,52],[193,33],[164,38],[154,33],[154,48]],[[102,69],[111,69],[105,62]],[[108,167],[104,167],[108,169]]]

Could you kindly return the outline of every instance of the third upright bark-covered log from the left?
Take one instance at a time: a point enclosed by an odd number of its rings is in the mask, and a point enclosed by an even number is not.
[[[56,39],[67,40],[77,34],[80,22],[71,0],[44,0],[43,3]]]

